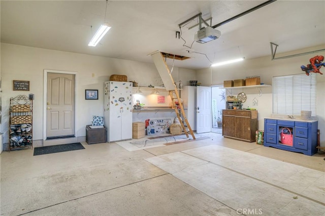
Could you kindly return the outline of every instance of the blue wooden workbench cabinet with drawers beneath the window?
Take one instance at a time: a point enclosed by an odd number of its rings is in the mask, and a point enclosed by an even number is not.
[[[300,152],[305,155],[317,153],[318,121],[291,121],[264,119],[264,146],[286,151]],[[285,128],[293,135],[293,143],[282,144],[281,132]]]

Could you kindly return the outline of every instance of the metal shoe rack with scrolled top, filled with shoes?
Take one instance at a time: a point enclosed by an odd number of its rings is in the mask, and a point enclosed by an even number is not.
[[[25,95],[10,98],[9,150],[32,148],[32,100]]]

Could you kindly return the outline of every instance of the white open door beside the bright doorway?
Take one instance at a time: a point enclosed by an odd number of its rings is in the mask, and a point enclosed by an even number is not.
[[[197,87],[197,133],[211,132],[211,87]]]

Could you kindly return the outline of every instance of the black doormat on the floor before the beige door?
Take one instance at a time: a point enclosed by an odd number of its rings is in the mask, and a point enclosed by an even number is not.
[[[44,146],[44,147],[37,147],[34,148],[34,156],[35,155],[42,155],[42,154],[52,154],[57,152],[64,152],[64,151],[74,151],[85,149],[81,143],[70,143],[70,144],[62,144],[62,145],[55,145],[55,146]]]

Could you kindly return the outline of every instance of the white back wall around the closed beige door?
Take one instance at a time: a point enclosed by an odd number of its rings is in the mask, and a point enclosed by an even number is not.
[[[44,69],[75,71],[77,82],[77,137],[85,136],[85,126],[91,123],[92,115],[104,114],[104,82],[112,74],[127,75],[128,81],[135,80],[139,86],[160,85],[161,79],[153,63],[90,56],[84,54],[53,51],[1,43],[1,76],[3,119],[1,133],[4,143],[9,142],[9,101],[20,94],[34,94],[33,140],[43,140],[43,74]],[[94,77],[92,77],[94,73]],[[182,74],[185,74],[182,76]],[[174,68],[174,80],[195,79],[195,71]],[[145,78],[144,78],[145,77]],[[29,80],[29,92],[12,90],[13,80]],[[98,89],[99,100],[85,100],[85,89]],[[1,145],[2,146],[2,145]]]

